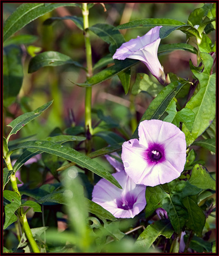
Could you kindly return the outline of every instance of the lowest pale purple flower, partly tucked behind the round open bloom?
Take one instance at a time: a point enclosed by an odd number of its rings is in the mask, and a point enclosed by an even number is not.
[[[92,201],[101,205],[116,218],[133,218],[146,205],[144,185],[137,185],[124,170],[112,174],[123,189],[101,179],[94,186]]]

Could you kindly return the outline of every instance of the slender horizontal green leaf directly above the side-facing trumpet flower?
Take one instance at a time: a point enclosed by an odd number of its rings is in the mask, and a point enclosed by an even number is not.
[[[139,19],[119,25],[115,30],[126,30],[128,28],[155,27],[155,26],[180,26],[186,23],[175,19]]]

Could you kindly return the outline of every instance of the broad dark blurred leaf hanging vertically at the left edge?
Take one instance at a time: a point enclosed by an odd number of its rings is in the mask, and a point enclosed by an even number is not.
[[[3,49],[3,104],[11,105],[23,83],[22,53],[18,46]]]

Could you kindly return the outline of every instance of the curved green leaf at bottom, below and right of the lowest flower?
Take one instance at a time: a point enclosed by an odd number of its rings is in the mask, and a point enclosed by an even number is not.
[[[146,227],[137,238],[135,245],[144,247],[147,250],[159,236],[171,238],[173,233],[174,230],[172,229],[170,220],[158,220]]]

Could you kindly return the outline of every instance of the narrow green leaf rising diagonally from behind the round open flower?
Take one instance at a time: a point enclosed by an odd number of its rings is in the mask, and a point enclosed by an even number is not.
[[[165,88],[163,88],[163,90],[159,92],[157,97],[154,98],[154,100],[151,102],[144,115],[142,115],[140,122],[150,119],[160,119],[166,112],[172,98],[174,98],[179,90],[182,89],[182,87],[186,84],[186,81],[182,83],[179,81],[174,81],[171,82],[171,84],[165,86]],[[138,127],[134,131],[132,138],[137,138],[137,134]]]

